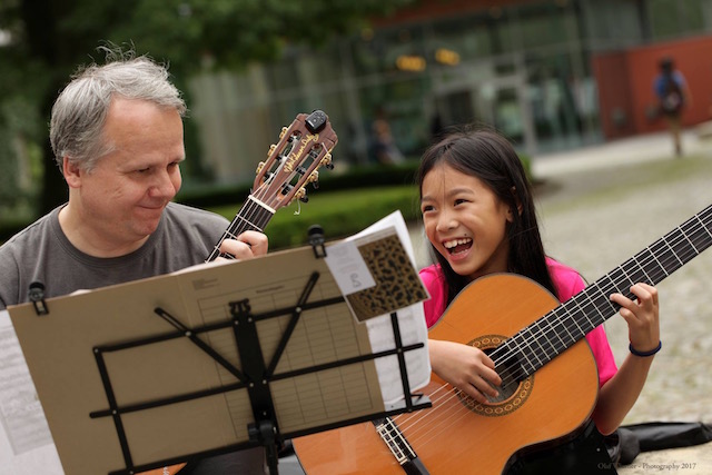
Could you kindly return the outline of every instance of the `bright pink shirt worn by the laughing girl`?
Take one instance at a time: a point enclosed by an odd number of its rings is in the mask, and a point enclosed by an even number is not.
[[[581,275],[571,267],[546,258],[548,271],[554,281],[554,286],[558,291],[560,301],[566,301],[574,295],[584,289],[586,284]],[[421,279],[431,294],[431,299],[424,303],[425,321],[431,328],[445,313],[445,304],[447,300],[447,289],[445,276],[441,271],[439,265],[432,265],[421,270]],[[599,385],[603,386],[605,382],[611,379],[617,372],[615,358],[609,344],[603,326],[599,326],[586,335],[586,340],[593,353],[593,357],[599,368]]]

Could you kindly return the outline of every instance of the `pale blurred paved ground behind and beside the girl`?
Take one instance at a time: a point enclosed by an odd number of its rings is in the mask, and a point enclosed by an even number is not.
[[[546,251],[577,268],[589,281],[613,270],[712,204],[712,141],[684,136],[686,155],[672,157],[665,135],[621,140],[603,147],[535,157],[541,181],[537,206]],[[421,231],[413,230],[418,260],[427,261]],[[663,350],[624,420],[712,423],[712,250],[702,253],[662,281]],[[606,324],[619,362],[627,352],[620,316]],[[712,474],[712,443],[647,452],[621,475]]]

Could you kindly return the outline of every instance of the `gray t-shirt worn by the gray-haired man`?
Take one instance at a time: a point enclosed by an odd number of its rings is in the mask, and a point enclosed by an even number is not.
[[[0,309],[29,301],[31,283],[44,297],[95,289],[172,273],[204,263],[229,221],[201,209],[171,202],[158,228],[139,249],[121,257],[98,258],[77,249],[59,225],[56,208],[0,246]],[[241,451],[189,464],[198,474],[263,474],[264,451]]]

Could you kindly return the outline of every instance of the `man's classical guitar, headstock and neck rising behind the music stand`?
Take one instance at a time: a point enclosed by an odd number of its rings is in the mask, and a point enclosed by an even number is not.
[[[239,236],[246,230],[263,231],[277,209],[295,199],[307,201],[306,185],[317,186],[318,168],[334,168],[332,150],[338,137],[326,113],[320,110],[299,113],[289,127],[284,127],[279,141],[269,147],[266,161],[260,161],[253,189],[230,226],[215,245],[206,261],[218,257],[233,258],[220,253],[225,239]],[[140,475],[174,475],[186,464],[142,472]]]

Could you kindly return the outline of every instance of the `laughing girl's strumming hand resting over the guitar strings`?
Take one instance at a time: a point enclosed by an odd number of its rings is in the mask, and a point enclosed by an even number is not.
[[[494,362],[478,348],[459,343],[429,339],[428,353],[433,372],[478,403],[496,397],[502,378]]]

